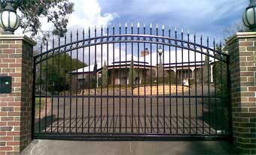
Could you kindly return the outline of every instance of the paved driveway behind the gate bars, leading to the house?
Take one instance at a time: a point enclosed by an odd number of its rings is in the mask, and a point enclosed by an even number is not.
[[[90,96],[48,97],[52,106],[47,117],[35,124],[35,131],[68,133],[217,133],[224,130],[217,118],[215,97],[197,88],[170,96],[135,96],[131,92],[97,92]],[[212,90],[211,90],[212,91]],[[109,96],[108,96],[109,95]],[[207,119],[206,119],[207,118]],[[211,119],[211,123],[209,120]],[[218,126],[218,129],[216,130]]]

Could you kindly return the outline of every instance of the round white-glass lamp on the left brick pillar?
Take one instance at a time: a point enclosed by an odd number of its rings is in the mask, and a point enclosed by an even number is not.
[[[6,0],[5,8],[0,13],[0,26],[5,30],[4,34],[14,34],[20,26],[20,16],[17,15],[13,4],[13,0]]]

